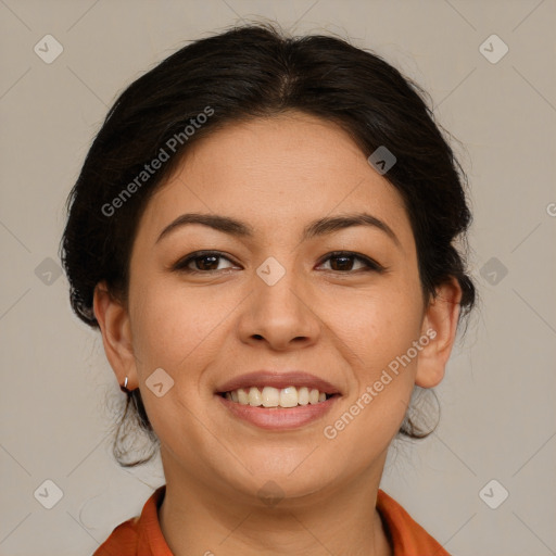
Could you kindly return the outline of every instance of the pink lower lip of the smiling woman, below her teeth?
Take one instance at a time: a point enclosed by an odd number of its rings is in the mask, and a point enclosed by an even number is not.
[[[298,405],[295,407],[257,407],[226,400],[219,394],[216,394],[216,397],[233,416],[261,429],[289,430],[303,427],[321,418],[332,408],[340,396],[333,395],[325,402],[318,402],[318,404]]]

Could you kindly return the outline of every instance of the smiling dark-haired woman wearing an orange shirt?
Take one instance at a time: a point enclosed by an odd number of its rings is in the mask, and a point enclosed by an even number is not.
[[[379,489],[475,300],[463,173],[417,90],[254,25],[117,99],[63,262],[166,484],[96,555],[447,554]]]

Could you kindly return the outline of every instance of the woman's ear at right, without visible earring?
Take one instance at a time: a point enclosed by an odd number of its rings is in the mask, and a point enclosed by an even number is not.
[[[421,338],[429,343],[417,358],[415,383],[421,388],[433,388],[444,378],[444,369],[452,352],[457,332],[462,287],[457,279],[437,288],[437,296],[426,307]],[[435,336],[433,333],[435,332]]]

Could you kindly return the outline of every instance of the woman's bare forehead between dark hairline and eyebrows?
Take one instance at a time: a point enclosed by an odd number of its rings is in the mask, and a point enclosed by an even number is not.
[[[193,211],[275,231],[365,211],[395,228],[402,240],[410,236],[400,193],[348,132],[299,112],[232,123],[192,143],[150,200],[141,231],[160,232]]]

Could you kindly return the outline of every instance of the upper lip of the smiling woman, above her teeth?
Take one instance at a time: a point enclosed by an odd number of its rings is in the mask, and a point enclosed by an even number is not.
[[[253,372],[248,372],[245,375],[229,379],[228,381],[220,384],[216,391],[218,393],[231,392],[232,390],[238,390],[239,388],[249,387],[274,387],[277,389],[288,387],[306,387],[311,389],[316,388],[318,391],[325,392],[327,394],[340,393],[339,389],[330,382],[316,377],[315,375],[311,375],[309,372],[304,372],[301,370],[255,370]]]

